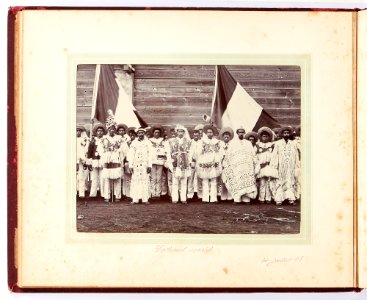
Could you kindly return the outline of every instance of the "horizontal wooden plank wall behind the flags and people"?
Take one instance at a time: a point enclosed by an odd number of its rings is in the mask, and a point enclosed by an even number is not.
[[[194,127],[210,114],[214,66],[134,65],[133,103],[149,124]],[[298,66],[227,66],[246,91],[282,125],[300,125],[301,70]],[[119,68],[115,67],[116,72]],[[121,70],[121,68],[120,68]],[[95,65],[77,71],[77,122],[90,116]],[[89,111],[89,114],[88,114]]]

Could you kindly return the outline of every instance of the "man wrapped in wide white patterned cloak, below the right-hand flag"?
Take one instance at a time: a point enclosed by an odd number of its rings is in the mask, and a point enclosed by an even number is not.
[[[257,196],[257,158],[251,142],[245,139],[245,129],[239,127],[236,133],[223,159],[222,178],[234,203],[249,204]]]

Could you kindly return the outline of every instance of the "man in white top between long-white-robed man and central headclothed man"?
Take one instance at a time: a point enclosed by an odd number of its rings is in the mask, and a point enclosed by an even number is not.
[[[168,145],[162,137],[162,127],[153,126],[151,131],[152,137],[149,139],[152,143],[152,172],[150,186],[152,198],[159,198],[162,194],[163,166],[167,160]]]

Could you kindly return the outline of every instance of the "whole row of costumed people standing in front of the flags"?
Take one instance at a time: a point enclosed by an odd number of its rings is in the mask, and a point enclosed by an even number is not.
[[[301,196],[300,128],[218,129],[197,125],[127,127],[110,115],[91,134],[77,126],[77,196],[132,204],[169,199],[184,204],[295,204]],[[88,187],[90,183],[90,187]]]

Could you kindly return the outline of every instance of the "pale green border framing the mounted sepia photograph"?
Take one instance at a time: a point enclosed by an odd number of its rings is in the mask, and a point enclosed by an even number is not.
[[[67,54],[68,64],[68,132],[76,126],[76,80],[77,65],[80,64],[176,64],[176,65],[298,65],[301,68],[301,176],[302,200],[299,234],[197,234],[197,233],[85,233],[77,232],[76,215],[76,166],[67,168],[66,240],[72,243],[143,243],[143,244],[310,244],[312,243],[312,181],[311,181],[311,57],[310,55],[238,55],[238,54]],[[66,161],[76,155],[76,141],[66,143]]]

